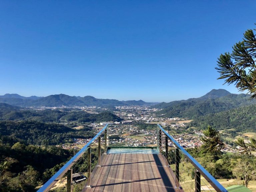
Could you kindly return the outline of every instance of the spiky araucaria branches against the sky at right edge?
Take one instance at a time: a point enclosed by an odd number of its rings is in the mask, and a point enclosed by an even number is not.
[[[225,79],[225,83],[235,84],[240,91],[247,90],[256,98],[256,38],[253,30],[244,33],[243,40],[236,43],[230,54],[221,54],[218,58],[220,73],[218,79]]]

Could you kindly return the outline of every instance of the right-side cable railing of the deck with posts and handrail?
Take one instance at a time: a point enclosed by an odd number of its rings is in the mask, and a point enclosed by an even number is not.
[[[209,174],[175,139],[173,139],[159,124],[159,143],[163,145],[165,137],[165,149],[161,151],[166,159],[166,164],[173,170],[176,188],[185,192],[227,192],[227,190]],[[161,135],[161,136],[160,136]],[[169,146],[169,140],[175,148]],[[159,144],[160,145],[160,144]],[[186,164],[186,167],[185,167]]]

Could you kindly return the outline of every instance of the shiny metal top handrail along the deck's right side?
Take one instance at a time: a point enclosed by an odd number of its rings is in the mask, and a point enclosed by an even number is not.
[[[160,130],[164,132],[164,134],[173,142],[176,148],[178,148],[183,155],[187,158],[187,160],[197,169],[201,175],[210,183],[210,185],[217,191],[217,192],[228,192],[208,171],[203,168],[180,144],[175,141],[159,124],[157,124]]]

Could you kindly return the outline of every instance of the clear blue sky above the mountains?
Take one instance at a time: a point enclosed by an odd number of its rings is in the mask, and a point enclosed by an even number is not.
[[[0,95],[165,101],[211,89],[256,1],[0,1]]]

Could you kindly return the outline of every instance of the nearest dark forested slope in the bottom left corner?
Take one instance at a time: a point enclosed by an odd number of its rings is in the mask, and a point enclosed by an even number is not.
[[[0,141],[0,191],[33,192],[58,171],[73,151]]]

